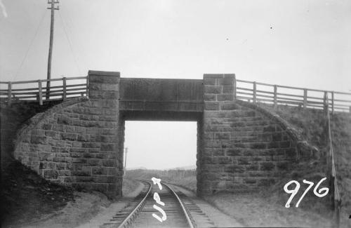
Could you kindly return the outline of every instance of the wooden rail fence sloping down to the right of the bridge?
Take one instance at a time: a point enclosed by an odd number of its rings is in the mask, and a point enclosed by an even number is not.
[[[327,96],[326,96],[327,95]],[[324,109],[326,103],[333,112],[351,112],[351,93],[279,86],[256,81],[234,81],[234,98],[249,102],[264,102],[314,109]]]

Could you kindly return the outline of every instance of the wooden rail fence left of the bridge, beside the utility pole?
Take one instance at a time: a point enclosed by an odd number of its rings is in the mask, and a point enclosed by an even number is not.
[[[46,83],[50,81],[50,88]],[[6,88],[7,85],[7,88]],[[88,77],[62,77],[61,79],[44,79],[32,81],[0,81],[0,100],[11,105],[21,100],[43,101],[66,100],[88,95]]]

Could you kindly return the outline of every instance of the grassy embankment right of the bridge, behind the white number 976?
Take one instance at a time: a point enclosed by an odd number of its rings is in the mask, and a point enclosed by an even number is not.
[[[274,110],[271,107],[264,106]],[[322,111],[308,109],[304,111],[298,107],[279,107],[276,112],[291,126],[296,128],[310,145],[319,149],[319,156],[324,159],[326,152],[326,118]],[[336,172],[338,187],[342,202],[341,226],[351,227],[351,116],[350,114],[334,114],[331,116],[331,133],[333,148],[336,156]],[[229,194],[219,193],[206,197],[206,200],[223,210],[225,213],[237,218],[239,222],[248,226],[300,226],[300,227],[333,227],[331,224],[331,211],[329,210],[329,197],[318,198],[314,196],[313,188],[301,201],[299,208],[295,203],[300,199],[307,185],[302,180],[317,182],[326,177],[325,161],[300,161],[296,163],[293,171],[282,173],[282,180],[270,189],[256,194]],[[298,180],[300,190],[294,197],[291,207],[285,208],[289,194],[283,190],[286,182]],[[326,187],[324,182],[320,187]],[[291,186],[293,188],[294,185]]]

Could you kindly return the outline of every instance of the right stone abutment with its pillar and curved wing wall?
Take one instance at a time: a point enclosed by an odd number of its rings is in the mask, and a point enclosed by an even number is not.
[[[234,74],[204,75],[204,135],[198,194],[246,192],[267,187],[298,159],[286,128],[234,100]]]

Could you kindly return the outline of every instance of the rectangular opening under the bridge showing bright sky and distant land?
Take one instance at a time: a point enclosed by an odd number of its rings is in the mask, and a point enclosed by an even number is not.
[[[124,121],[123,162],[126,172],[123,189],[128,189],[133,180],[158,177],[196,191],[198,132],[194,120]]]

